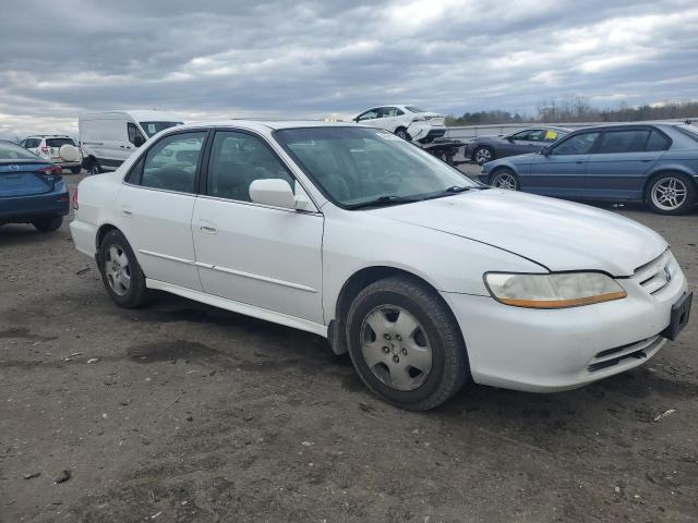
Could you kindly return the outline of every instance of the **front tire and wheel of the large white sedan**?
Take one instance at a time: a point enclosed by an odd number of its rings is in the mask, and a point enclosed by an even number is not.
[[[363,289],[349,308],[347,341],[366,387],[401,409],[434,409],[470,376],[456,318],[435,291],[414,278],[389,277]]]

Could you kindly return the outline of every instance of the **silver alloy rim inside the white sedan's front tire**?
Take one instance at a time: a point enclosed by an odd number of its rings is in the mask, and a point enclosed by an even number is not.
[[[432,369],[432,349],[419,320],[401,307],[381,305],[361,325],[363,358],[383,384],[414,390]]]

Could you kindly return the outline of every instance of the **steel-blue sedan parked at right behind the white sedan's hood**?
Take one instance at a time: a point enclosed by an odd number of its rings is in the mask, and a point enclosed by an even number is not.
[[[532,155],[482,166],[495,187],[570,199],[645,202],[679,215],[698,195],[698,126],[641,123],[580,129]]]

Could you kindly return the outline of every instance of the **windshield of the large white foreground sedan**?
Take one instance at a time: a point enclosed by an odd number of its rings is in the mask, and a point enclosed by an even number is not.
[[[287,129],[275,138],[325,195],[350,208],[382,197],[446,196],[479,182],[393,133],[364,127]],[[444,194],[442,194],[444,193]]]

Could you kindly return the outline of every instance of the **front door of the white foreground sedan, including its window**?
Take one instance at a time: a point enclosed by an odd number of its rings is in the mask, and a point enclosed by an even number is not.
[[[296,182],[263,138],[217,131],[192,230],[204,291],[323,324],[323,216],[258,205],[258,179]]]

